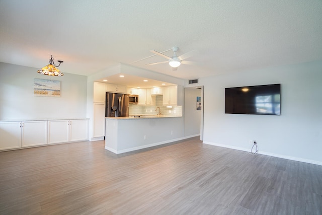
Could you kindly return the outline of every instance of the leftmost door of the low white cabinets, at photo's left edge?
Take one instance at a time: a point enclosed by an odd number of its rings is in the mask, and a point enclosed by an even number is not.
[[[0,122],[0,150],[21,148],[21,122]]]

